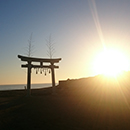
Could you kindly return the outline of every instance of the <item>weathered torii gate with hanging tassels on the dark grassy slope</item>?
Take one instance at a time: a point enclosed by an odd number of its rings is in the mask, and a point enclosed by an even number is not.
[[[54,68],[59,68],[59,66],[55,66],[54,63],[58,63],[61,58],[57,59],[42,59],[42,58],[34,58],[34,57],[26,57],[18,55],[18,58],[21,59],[21,61],[26,61],[27,64],[21,65],[21,67],[28,69],[27,74],[27,95],[30,96],[31,94],[31,69],[32,68],[49,68],[51,69],[51,75],[52,75],[52,87],[55,87],[55,72]],[[39,65],[33,65],[32,62],[39,62]],[[50,65],[43,65],[43,62],[50,63]]]

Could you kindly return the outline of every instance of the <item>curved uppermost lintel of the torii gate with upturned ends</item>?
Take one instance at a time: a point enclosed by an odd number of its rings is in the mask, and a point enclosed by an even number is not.
[[[61,60],[61,58],[56,59],[43,59],[43,58],[34,58],[34,57],[26,57],[18,55],[18,58],[21,59],[21,61],[27,61],[27,62],[50,62],[50,63],[57,63]]]

